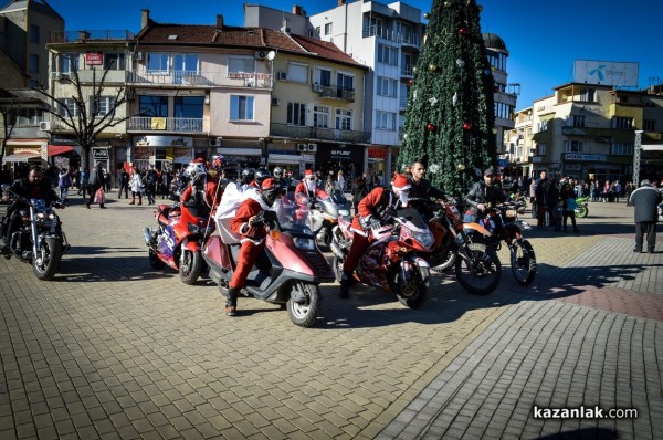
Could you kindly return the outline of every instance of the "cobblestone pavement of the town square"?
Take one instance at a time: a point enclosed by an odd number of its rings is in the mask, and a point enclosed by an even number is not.
[[[661,437],[663,271],[634,254],[631,208],[591,203],[579,234],[532,231],[539,273],[473,296],[436,276],[425,305],[322,285],[315,328],[152,270],[152,207],[61,211],[72,243],[40,282],[0,259],[0,439]],[[634,407],[541,420],[534,405]],[[656,429],[656,426],[657,428]]]

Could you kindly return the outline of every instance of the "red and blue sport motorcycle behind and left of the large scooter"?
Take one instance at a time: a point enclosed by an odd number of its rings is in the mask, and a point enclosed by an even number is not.
[[[155,218],[157,228],[144,230],[149,264],[154,269],[169,265],[182,283],[194,284],[204,265],[202,243],[214,231],[209,210],[191,202],[159,205]]]

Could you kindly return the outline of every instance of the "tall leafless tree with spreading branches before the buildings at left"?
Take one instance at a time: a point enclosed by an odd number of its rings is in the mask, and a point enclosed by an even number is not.
[[[109,70],[110,66],[103,71],[101,78],[97,78],[97,70],[92,69],[92,81],[81,83],[78,70],[74,64],[71,64],[69,80],[73,85],[71,96],[57,97],[55,91],[35,88],[36,92],[50,101],[45,112],[53,115],[61,126],[73,132],[76,142],[83,149],[81,167],[85,169],[90,164],[90,149],[95,145],[97,136],[107,128],[131,117],[128,108],[125,116],[116,117],[116,111],[129,101],[129,94],[128,88],[124,85],[106,84]],[[74,106],[70,107],[65,99],[72,99]],[[102,99],[106,99],[107,104],[103,113],[101,112]]]

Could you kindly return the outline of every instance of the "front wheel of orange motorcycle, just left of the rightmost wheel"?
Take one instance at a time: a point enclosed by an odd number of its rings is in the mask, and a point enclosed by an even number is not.
[[[455,274],[459,283],[474,295],[487,295],[499,285],[502,263],[497,253],[484,243],[467,244],[471,259],[459,256]],[[474,268],[474,271],[472,270]]]

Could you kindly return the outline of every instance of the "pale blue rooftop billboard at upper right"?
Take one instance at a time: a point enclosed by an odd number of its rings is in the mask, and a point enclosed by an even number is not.
[[[576,60],[573,82],[617,87],[638,87],[638,63]]]

